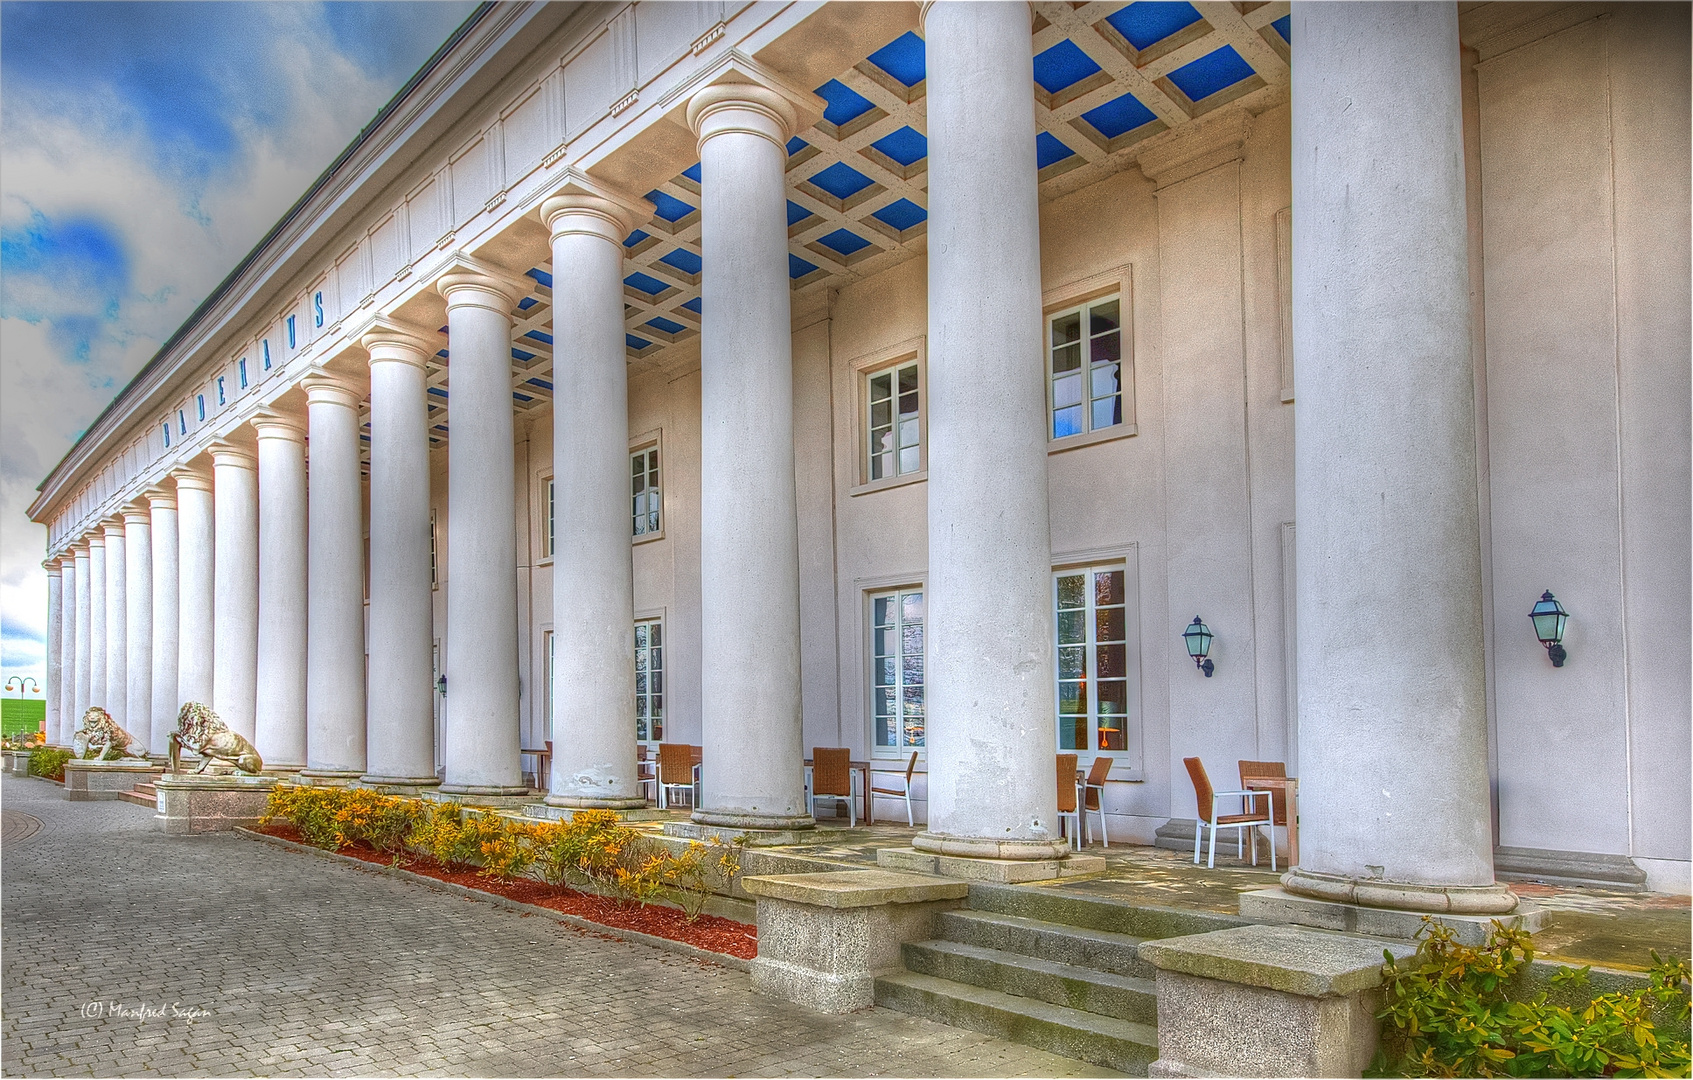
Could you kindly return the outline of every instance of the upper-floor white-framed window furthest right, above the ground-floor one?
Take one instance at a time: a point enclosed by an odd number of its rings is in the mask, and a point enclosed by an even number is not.
[[[1122,295],[1100,296],[1046,317],[1046,388],[1051,437],[1085,435],[1122,423]]]

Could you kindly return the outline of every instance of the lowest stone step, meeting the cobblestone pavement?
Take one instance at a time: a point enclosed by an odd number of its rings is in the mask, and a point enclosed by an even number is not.
[[[1158,1029],[918,972],[875,980],[875,1004],[1144,1077]]]

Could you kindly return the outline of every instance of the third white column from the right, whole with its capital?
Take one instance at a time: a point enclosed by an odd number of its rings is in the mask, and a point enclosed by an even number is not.
[[[701,801],[694,821],[804,828],[799,523],[787,278],[794,105],[753,85],[687,105],[701,249]]]

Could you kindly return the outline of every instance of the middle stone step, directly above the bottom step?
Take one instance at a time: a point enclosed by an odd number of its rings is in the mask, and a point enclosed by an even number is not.
[[[1158,1022],[1158,999],[1150,978],[1112,975],[1075,963],[958,941],[921,941],[906,945],[902,953],[906,970],[918,975],[933,975],[1136,1024]]]

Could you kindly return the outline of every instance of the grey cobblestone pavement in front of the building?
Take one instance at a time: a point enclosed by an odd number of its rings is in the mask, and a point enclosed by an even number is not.
[[[5,1075],[1100,1077],[237,836],[0,780]]]

